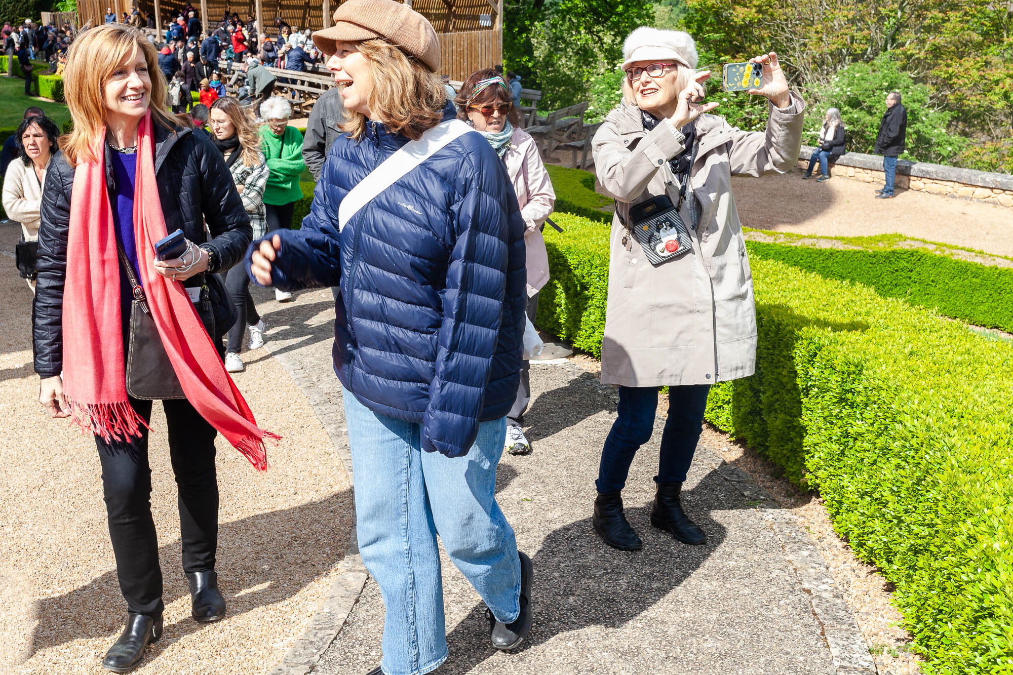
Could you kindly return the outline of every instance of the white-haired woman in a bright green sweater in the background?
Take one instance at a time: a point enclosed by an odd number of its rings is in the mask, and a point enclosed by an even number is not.
[[[292,106],[281,96],[271,96],[260,105],[266,124],[260,127],[260,143],[267,159],[267,185],[263,190],[267,231],[292,227],[296,202],[303,199],[299,175],[306,170],[303,161],[303,135],[289,126]],[[287,291],[275,289],[279,302],[292,298]]]

